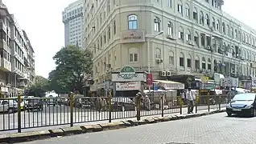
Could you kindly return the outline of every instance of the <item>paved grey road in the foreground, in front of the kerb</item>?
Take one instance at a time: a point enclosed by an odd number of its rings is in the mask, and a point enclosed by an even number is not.
[[[225,113],[120,130],[50,138],[26,144],[254,144],[256,118],[227,117]]]

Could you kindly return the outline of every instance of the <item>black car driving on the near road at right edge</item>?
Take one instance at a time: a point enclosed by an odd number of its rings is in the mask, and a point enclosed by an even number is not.
[[[256,116],[255,100],[255,93],[236,94],[226,107],[226,112],[229,117],[232,114],[242,114],[254,117]]]

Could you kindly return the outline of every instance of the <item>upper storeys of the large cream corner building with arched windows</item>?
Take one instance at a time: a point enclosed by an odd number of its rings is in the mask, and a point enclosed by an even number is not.
[[[221,10],[222,0],[88,0],[84,47],[95,83],[133,66],[154,79],[181,74],[255,76],[256,30]]]

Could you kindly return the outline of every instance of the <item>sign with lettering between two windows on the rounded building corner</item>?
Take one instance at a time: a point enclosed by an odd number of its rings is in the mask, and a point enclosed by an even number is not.
[[[145,42],[145,32],[142,30],[122,31],[122,43]]]

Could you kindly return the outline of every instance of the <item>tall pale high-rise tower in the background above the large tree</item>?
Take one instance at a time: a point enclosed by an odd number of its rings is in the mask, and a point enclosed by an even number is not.
[[[65,46],[78,45],[79,47],[82,47],[83,7],[84,0],[78,0],[69,4],[62,12]]]

